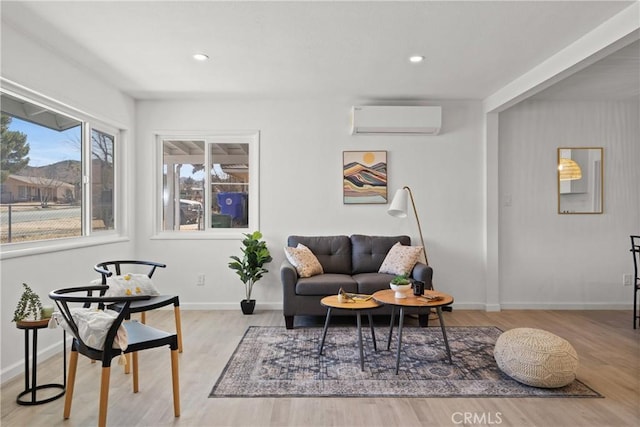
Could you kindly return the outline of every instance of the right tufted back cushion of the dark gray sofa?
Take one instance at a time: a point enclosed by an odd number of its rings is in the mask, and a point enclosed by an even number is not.
[[[377,272],[393,245],[410,245],[409,236],[351,236],[352,274]]]

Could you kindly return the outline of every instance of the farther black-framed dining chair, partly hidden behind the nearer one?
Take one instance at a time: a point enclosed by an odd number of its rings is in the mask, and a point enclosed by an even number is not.
[[[104,261],[96,264],[93,269],[100,273],[102,277],[101,283],[107,284],[107,278],[111,277],[114,273],[116,276],[121,276],[130,271],[126,269],[134,269],[135,266],[143,266],[147,269],[147,276],[151,278],[157,268],[165,268],[166,264],[162,264],[154,261],[141,261],[141,260],[123,260],[123,261]],[[180,298],[178,295],[159,295],[152,296],[151,298],[143,301],[133,301],[130,304],[130,313],[140,313],[140,321],[146,324],[146,312],[149,310],[155,310],[157,308],[173,305],[173,312],[176,322],[176,334],[178,335],[178,352],[182,353],[182,321],[180,319]],[[119,304],[116,303],[109,308],[114,310],[118,309]]]

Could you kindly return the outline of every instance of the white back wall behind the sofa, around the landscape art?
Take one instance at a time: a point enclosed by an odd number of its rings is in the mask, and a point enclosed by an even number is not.
[[[439,136],[351,136],[349,110],[360,101],[262,99],[144,101],[137,107],[137,254],[166,262],[158,274],[164,290],[180,294],[186,308],[238,309],[242,284],[227,267],[239,240],[152,239],[152,189],[157,189],[154,134],[162,130],[260,130],[260,229],[274,261],[254,288],[257,310],[279,308],[279,266],[290,234],[409,234],[413,219],[386,214],[387,204],[344,205],[342,152],[387,150],[389,199],[409,185],[425,234],[436,287],[456,303],[483,307],[482,110],[479,102],[443,106]],[[390,201],[390,200],[389,200]],[[196,276],[206,285],[196,287]]]

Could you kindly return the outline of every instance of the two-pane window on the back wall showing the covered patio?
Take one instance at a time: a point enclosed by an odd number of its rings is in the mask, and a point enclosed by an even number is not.
[[[160,136],[160,231],[258,228],[258,134]],[[201,233],[202,234],[202,233]]]

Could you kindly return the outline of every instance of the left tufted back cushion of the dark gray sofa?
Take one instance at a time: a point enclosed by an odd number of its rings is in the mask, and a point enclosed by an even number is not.
[[[287,246],[302,243],[318,258],[325,273],[351,274],[351,240],[348,236],[289,236]]]

